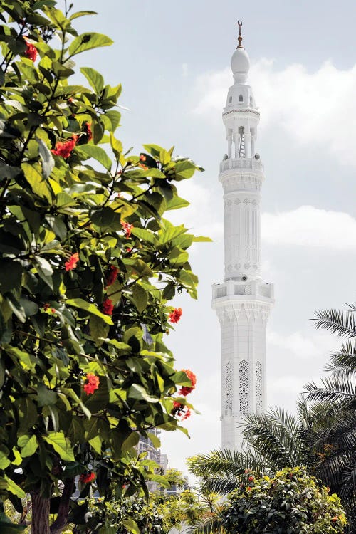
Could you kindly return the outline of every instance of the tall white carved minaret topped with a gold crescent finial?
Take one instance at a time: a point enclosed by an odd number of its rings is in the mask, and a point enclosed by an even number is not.
[[[255,152],[260,118],[247,83],[250,61],[241,45],[231,58],[234,85],[223,111],[227,155],[224,189],[225,280],[214,284],[212,306],[221,325],[222,446],[241,449],[245,414],[266,408],[266,322],[273,284],[261,279],[260,200],[263,165]]]

